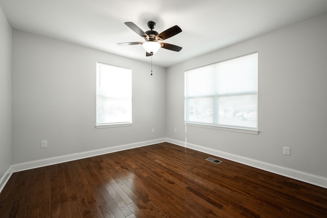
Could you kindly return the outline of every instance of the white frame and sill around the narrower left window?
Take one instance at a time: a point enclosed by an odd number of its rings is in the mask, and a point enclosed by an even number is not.
[[[100,65],[107,65],[110,67],[117,67],[117,68],[121,68],[121,69],[128,69],[130,70],[130,89],[131,89],[131,93],[130,93],[130,101],[131,101],[131,108],[130,108],[130,122],[112,122],[112,123],[99,123],[98,124],[98,80],[100,80]],[[128,67],[122,67],[122,66],[116,66],[116,65],[112,65],[112,64],[108,64],[108,63],[103,63],[103,62],[97,62],[96,63],[96,129],[102,129],[102,128],[113,128],[113,127],[125,127],[125,126],[132,126],[133,125],[133,111],[132,111],[132,69],[128,68]]]

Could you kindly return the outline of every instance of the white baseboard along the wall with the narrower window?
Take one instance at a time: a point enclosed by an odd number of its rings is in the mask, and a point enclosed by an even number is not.
[[[119,152],[119,151],[124,151],[124,150],[128,150],[128,149],[139,148],[139,147],[143,147],[143,146],[149,146],[151,144],[161,143],[161,142],[165,142],[165,141],[166,141],[166,138],[159,138],[159,139],[155,139],[155,140],[123,144],[121,146],[115,146],[115,147],[110,147],[110,148],[97,149],[97,150],[92,150],[92,151],[87,151],[87,152],[62,155],[62,156],[58,156],[58,157],[45,158],[45,159],[29,161],[29,162],[24,162],[24,163],[17,163],[17,164],[12,165],[12,172],[26,171],[27,169],[33,169],[33,168],[38,168],[38,167],[42,167],[42,166],[49,166],[49,165],[53,165],[53,164],[58,164],[58,163],[63,163],[63,162],[68,162],[68,161],[73,161],[73,160],[79,160],[79,159],[83,159],[83,158],[87,158],[87,157],[94,157],[94,156],[98,156],[98,155],[109,154],[109,153],[113,153],[113,152]]]

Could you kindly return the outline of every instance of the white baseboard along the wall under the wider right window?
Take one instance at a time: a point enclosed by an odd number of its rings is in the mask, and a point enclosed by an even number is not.
[[[175,139],[171,139],[171,138],[167,138],[166,141],[176,144],[178,146],[185,147],[184,141],[179,141],[179,140],[175,140]],[[278,166],[275,164],[271,164],[271,163],[267,163],[267,162],[263,162],[263,161],[259,161],[259,160],[254,160],[254,159],[239,156],[239,155],[230,154],[227,152],[222,152],[222,151],[218,151],[218,150],[214,150],[214,149],[205,148],[205,147],[198,146],[198,145],[192,144],[192,143],[186,143],[186,148],[200,151],[200,152],[203,152],[206,154],[211,154],[211,155],[214,155],[217,157],[221,157],[221,158],[224,158],[227,160],[242,163],[242,164],[245,164],[248,166],[253,166],[255,168],[263,169],[264,171],[268,171],[268,172],[271,172],[274,174],[286,176],[288,178],[296,179],[296,180],[306,182],[309,184],[313,184],[313,185],[317,185],[317,186],[320,186],[323,188],[327,188],[327,178],[325,178],[325,177],[309,174],[306,172],[297,171],[295,169],[287,168],[284,166]]]

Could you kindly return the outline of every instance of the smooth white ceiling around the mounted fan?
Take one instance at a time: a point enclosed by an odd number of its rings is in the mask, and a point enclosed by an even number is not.
[[[0,6],[14,29],[145,62],[151,58],[142,45],[116,44],[143,41],[124,22],[147,31],[153,20],[159,33],[178,25],[182,32],[164,42],[183,49],[153,56],[154,64],[169,67],[324,13],[327,0],[0,0]]]

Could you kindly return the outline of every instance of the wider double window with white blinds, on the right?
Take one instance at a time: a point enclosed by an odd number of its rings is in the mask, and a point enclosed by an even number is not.
[[[258,53],[185,71],[185,124],[258,134]]]

